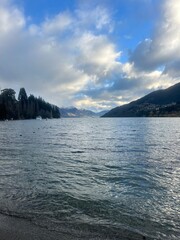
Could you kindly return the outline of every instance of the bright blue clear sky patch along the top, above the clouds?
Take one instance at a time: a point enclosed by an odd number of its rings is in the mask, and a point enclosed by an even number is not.
[[[31,22],[36,24],[42,23],[48,17],[53,18],[60,12],[74,13],[79,8],[92,9],[99,5],[107,8],[116,25],[114,31],[109,33],[109,37],[117,47],[124,50],[124,61],[127,60],[129,49],[134,49],[138,42],[151,36],[158,19],[160,5],[160,0],[16,0],[14,2],[23,9],[26,16],[31,18]]]

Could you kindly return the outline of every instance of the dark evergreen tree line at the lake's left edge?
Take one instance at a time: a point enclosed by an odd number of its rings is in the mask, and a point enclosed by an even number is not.
[[[1,90],[0,120],[19,120],[42,118],[60,118],[59,108],[41,97],[28,97],[26,90],[21,88],[16,99],[16,92],[11,88]]]

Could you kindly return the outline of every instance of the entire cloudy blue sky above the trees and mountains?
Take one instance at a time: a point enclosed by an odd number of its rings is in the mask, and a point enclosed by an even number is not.
[[[179,81],[179,0],[0,0],[0,89],[100,111]]]

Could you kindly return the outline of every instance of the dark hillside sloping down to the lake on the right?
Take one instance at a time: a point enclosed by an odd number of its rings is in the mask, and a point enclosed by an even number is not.
[[[180,116],[180,83],[167,89],[157,90],[113,108],[102,117],[166,117]]]

